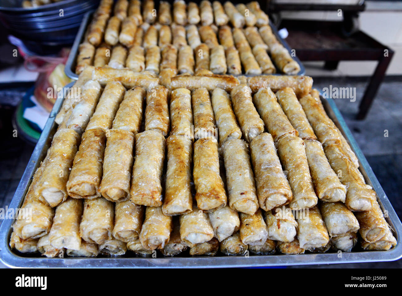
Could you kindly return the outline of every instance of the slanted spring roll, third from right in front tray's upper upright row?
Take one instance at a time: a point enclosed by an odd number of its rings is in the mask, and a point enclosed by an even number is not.
[[[275,142],[284,135],[298,135],[270,88],[258,90],[253,102]]]

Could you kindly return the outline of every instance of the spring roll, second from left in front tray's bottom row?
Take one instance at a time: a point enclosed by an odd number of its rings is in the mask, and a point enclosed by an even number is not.
[[[81,215],[82,199],[69,197],[57,206],[49,232],[49,240],[53,247],[57,249],[80,249]]]

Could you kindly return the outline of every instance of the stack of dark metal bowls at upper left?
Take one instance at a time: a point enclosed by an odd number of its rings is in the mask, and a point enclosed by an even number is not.
[[[0,0],[0,20],[12,35],[39,54],[72,44],[84,15],[99,4],[99,0],[62,0],[23,8],[22,2]]]

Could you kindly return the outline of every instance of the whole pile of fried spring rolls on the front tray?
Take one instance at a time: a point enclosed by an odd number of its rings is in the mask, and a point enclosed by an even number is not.
[[[84,68],[10,246],[154,257],[351,251],[359,236],[364,250],[396,245],[310,77],[206,77],[127,89]]]

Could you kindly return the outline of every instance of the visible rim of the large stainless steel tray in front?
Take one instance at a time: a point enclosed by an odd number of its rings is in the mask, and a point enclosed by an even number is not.
[[[66,87],[72,86],[68,84]],[[321,98],[322,99],[322,98]],[[47,148],[55,133],[57,124],[55,115],[62,105],[63,98],[59,96],[50,113],[42,135],[33,151],[31,159],[25,169],[24,175],[11,201],[10,208],[19,208],[25,197],[31,177],[39,163],[45,157]],[[334,120],[338,128],[347,138],[352,149],[359,158],[360,169],[367,184],[370,184],[377,193],[377,200],[381,209],[388,211],[387,222],[392,226],[394,236],[398,244],[389,251],[359,251],[342,253],[310,253],[299,255],[250,255],[244,256],[215,256],[215,257],[97,257],[97,258],[46,258],[39,254],[21,254],[10,249],[8,245],[11,235],[13,220],[4,220],[0,227],[0,259],[10,267],[255,267],[255,266],[281,266],[281,265],[310,265],[330,263],[355,263],[374,261],[394,261],[402,257],[402,224],[391,206],[384,190],[381,188],[366,158],[357,146],[349,128],[332,99],[322,99],[328,115]]]

